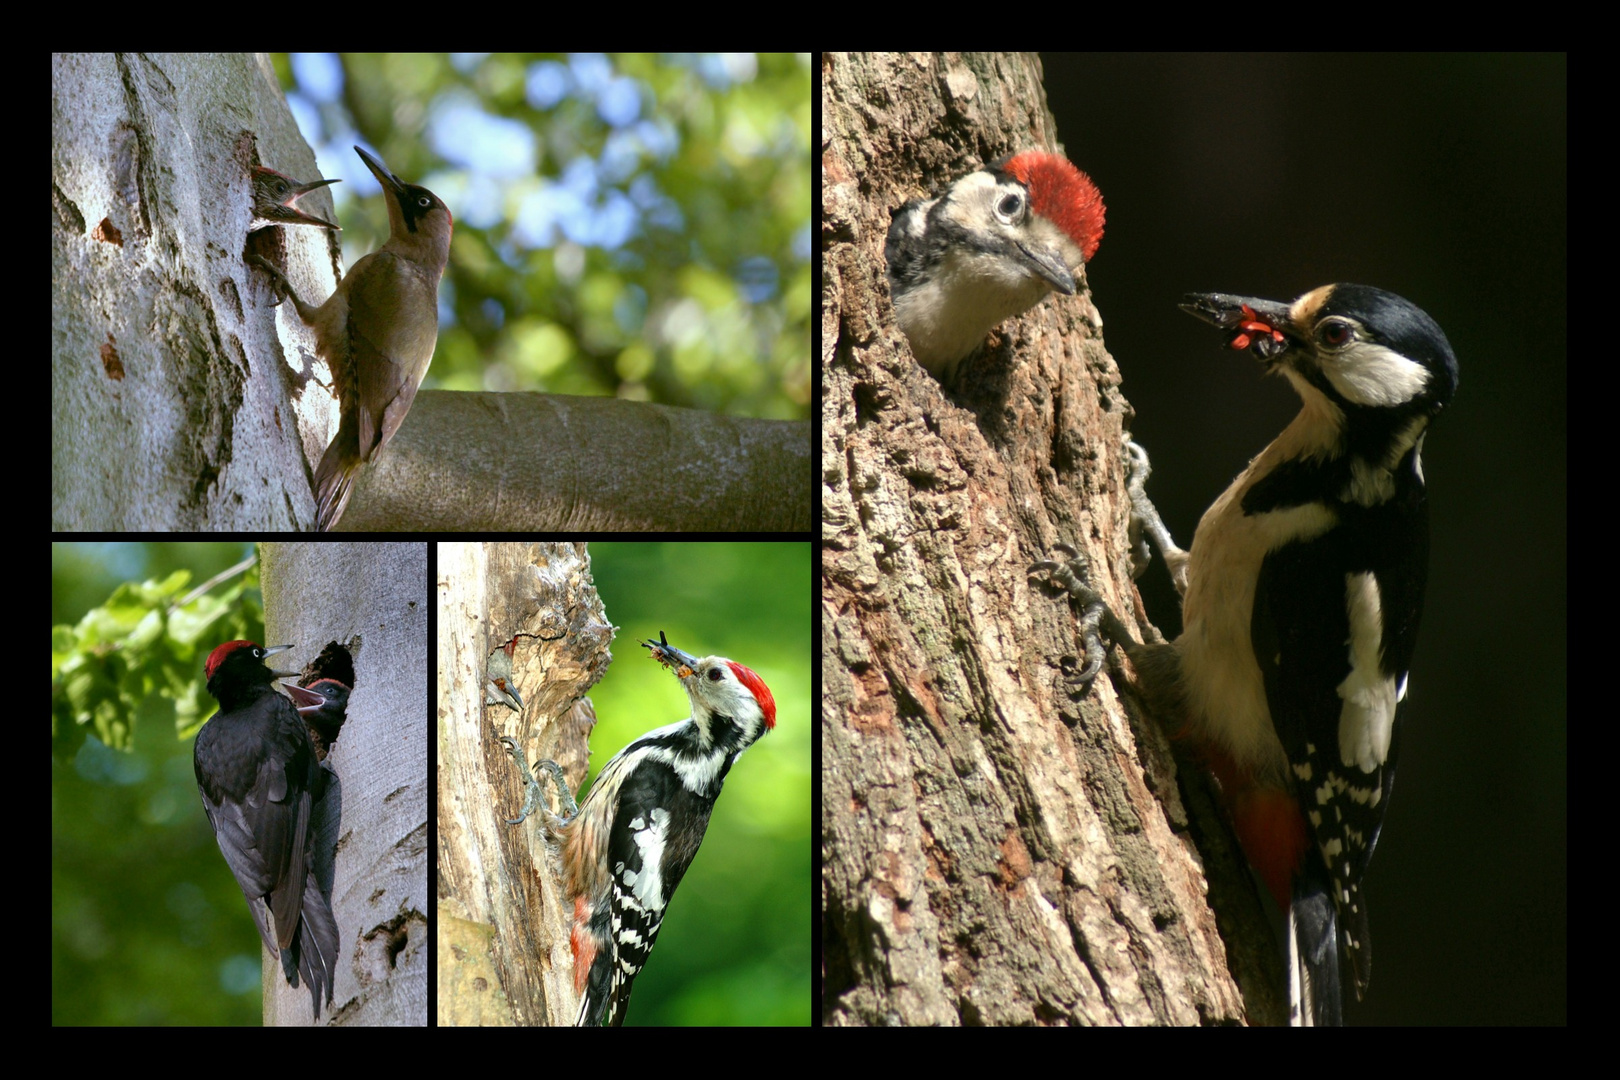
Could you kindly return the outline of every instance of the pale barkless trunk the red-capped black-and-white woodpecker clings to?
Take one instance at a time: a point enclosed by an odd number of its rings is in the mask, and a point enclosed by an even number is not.
[[[572,910],[536,823],[505,824],[523,785],[499,740],[557,761],[577,792],[611,641],[585,544],[439,546],[441,1025],[572,1022]],[[507,643],[522,714],[484,703]]]

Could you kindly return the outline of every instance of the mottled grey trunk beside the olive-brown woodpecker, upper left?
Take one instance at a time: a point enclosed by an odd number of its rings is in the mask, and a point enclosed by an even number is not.
[[[58,53],[50,91],[52,528],[298,528],[337,415],[241,261],[251,165],[316,178],[269,60]],[[335,235],[280,232],[330,291]]]

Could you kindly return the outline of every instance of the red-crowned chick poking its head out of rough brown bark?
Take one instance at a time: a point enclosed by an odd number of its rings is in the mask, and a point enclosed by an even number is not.
[[[896,210],[885,246],[894,317],[919,363],[948,379],[996,324],[1053,291],[1072,296],[1102,236],[1102,193],[1068,159],[1003,159]]]

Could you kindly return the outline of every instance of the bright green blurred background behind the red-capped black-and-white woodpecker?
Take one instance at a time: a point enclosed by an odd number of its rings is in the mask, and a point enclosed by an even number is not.
[[[619,627],[591,690],[591,776],[627,742],[690,714],[687,695],[638,643],[752,667],[776,698],[776,730],[726,777],[708,836],[680,882],[627,1023],[810,1023],[810,546],[591,544],[591,573]]]

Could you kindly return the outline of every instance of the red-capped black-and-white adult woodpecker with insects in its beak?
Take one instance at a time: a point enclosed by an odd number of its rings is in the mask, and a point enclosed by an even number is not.
[[[776,727],[776,699],[752,670],[723,656],[698,659],[643,641],[692,699],[692,716],[642,735],[603,766],[578,806],[556,761],[530,772],[522,746],[502,737],[523,772],[523,811],[535,813],[562,853],[573,902],[573,988],[578,1027],[624,1023],[630,986],[658,941],[676,887],[698,853],[726,774],[744,750]],[[561,814],[546,808],[539,771],[557,785]]]

